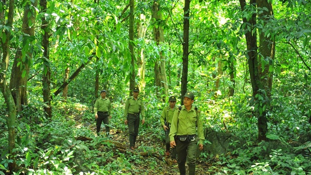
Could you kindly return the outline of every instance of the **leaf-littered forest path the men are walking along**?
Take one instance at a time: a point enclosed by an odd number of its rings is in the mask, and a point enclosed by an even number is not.
[[[89,128],[94,132],[95,135],[96,128],[94,127],[94,125],[89,126]],[[101,131],[103,129],[104,126],[102,125]],[[102,133],[103,134],[98,137],[106,137],[104,135],[104,131],[102,131]],[[136,157],[136,160],[130,158],[132,159],[130,161],[132,165],[131,170],[123,169],[122,173],[125,174],[130,173],[132,175],[179,175],[178,164],[173,161],[171,155],[170,156],[164,155],[165,141],[163,139],[160,139],[160,137],[155,135],[155,133],[152,132],[148,133],[148,131],[144,131],[143,133],[138,135],[136,141],[137,148],[134,151],[129,148],[127,131],[122,132],[119,129],[111,128],[110,135],[111,141],[119,142],[121,143],[121,145],[123,145],[123,147],[125,148],[125,150],[123,150],[125,157]],[[162,148],[162,151],[158,151],[160,150],[159,148]],[[113,157],[117,158],[118,156],[114,155]],[[110,159],[110,161],[112,162],[113,160]],[[211,166],[211,163],[213,162],[205,162],[198,159],[196,162],[196,175],[211,175],[210,170],[208,171],[208,168]],[[213,171],[212,174],[216,172],[217,170]]]

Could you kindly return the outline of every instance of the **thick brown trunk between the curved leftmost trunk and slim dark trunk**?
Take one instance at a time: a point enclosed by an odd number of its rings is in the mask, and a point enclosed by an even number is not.
[[[36,12],[31,10],[35,9],[31,8],[32,6],[37,6],[37,0],[32,1],[31,5],[26,3],[22,21],[22,32],[29,36],[35,35],[35,27],[32,26],[35,24]],[[29,14],[31,15],[29,16]],[[12,67],[12,72],[14,73],[11,74],[10,79],[10,89],[13,89],[12,95],[18,112],[22,110],[23,105],[27,105],[27,79],[29,75],[29,65],[32,59],[32,53],[29,51],[32,47],[31,41],[29,41],[29,39],[27,40],[28,42],[26,42],[26,44],[28,46],[17,49]],[[25,50],[27,48],[28,50]],[[25,55],[22,55],[22,50],[25,50]],[[23,72],[25,72],[25,74],[23,74]]]

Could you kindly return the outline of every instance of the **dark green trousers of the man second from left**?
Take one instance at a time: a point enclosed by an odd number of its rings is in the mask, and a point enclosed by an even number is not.
[[[127,115],[127,125],[128,125],[128,133],[130,135],[130,147],[135,146],[136,138],[138,135],[139,128],[139,114],[128,114]]]

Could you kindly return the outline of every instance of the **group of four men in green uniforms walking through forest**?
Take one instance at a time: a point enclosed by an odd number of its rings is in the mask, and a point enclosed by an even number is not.
[[[99,134],[102,122],[105,124],[106,135],[109,136],[109,118],[111,118],[111,103],[106,98],[107,92],[101,91],[101,98],[97,99],[94,105],[96,132]],[[135,150],[136,139],[140,116],[141,123],[145,123],[145,106],[138,97],[139,89],[133,89],[133,95],[125,102],[124,123],[128,125],[130,149]],[[172,147],[172,158],[177,160],[180,175],[186,175],[186,162],[189,168],[189,175],[195,175],[195,161],[197,144],[203,150],[205,140],[203,125],[200,120],[200,112],[193,105],[194,95],[186,92],[183,96],[184,105],[176,107],[176,97],[169,98],[169,105],[164,107],[160,117],[161,126],[165,131],[166,150],[165,155],[170,155]]]

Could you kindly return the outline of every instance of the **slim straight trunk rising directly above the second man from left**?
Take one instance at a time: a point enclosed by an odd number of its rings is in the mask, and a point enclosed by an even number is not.
[[[132,90],[136,86],[135,84],[135,77],[136,77],[136,71],[135,71],[135,52],[134,52],[134,9],[135,9],[135,0],[130,0],[130,14],[129,14],[129,43],[128,43],[128,49],[131,53],[131,78],[130,78],[130,96],[132,95]]]

